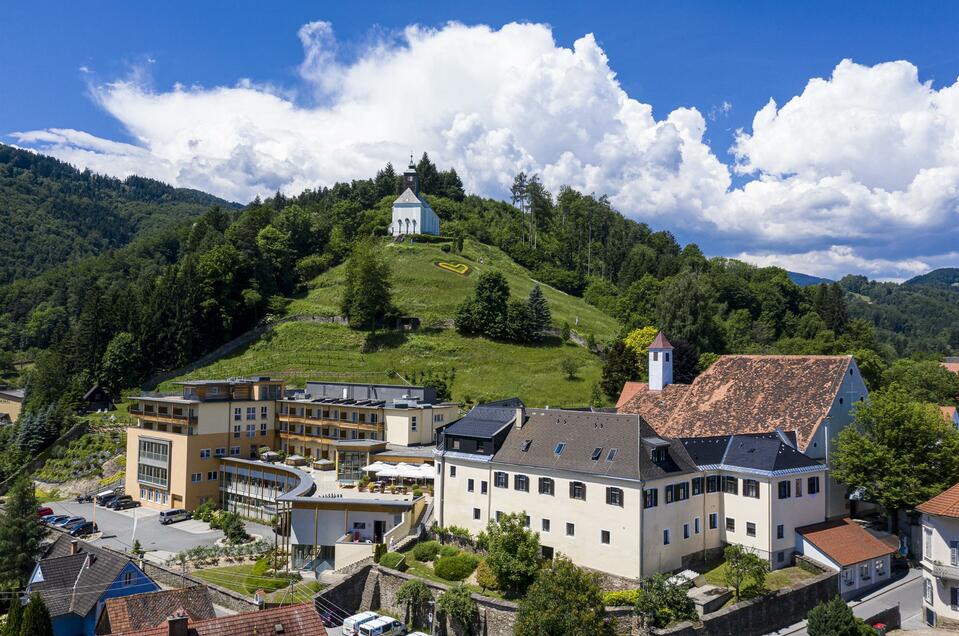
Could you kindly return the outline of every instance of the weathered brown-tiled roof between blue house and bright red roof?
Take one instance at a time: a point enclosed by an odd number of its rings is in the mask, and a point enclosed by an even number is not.
[[[167,624],[167,618],[183,612],[190,620],[215,618],[210,591],[205,585],[160,590],[108,599],[97,621],[97,634],[131,632]]]

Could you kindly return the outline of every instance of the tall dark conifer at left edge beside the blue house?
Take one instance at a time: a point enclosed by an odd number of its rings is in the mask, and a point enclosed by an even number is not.
[[[26,584],[40,556],[43,534],[33,482],[21,477],[10,487],[0,513],[0,587],[20,589]]]

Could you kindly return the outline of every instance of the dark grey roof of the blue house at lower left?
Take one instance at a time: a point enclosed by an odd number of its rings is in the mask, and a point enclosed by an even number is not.
[[[29,586],[43,597],[50,616],[86,616],[130,562],[83,541],[77,554],[70,554],[72,540],[64,534],[50,545],[39,562],[43,581]]]

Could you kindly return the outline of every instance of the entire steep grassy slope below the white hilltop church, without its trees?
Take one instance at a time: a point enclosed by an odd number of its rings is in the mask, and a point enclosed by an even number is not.
[[[593,384],[600,378],[599,358],[558,338],[538,346],[466,338],[443,328],[456,307],[472,291],[477,275],[487,269],[501,271],[515,297],[526,297],[535,282],[524,268],[496,248],[467,241],[462,254],[443,252],[438,245],[384,243],[382,249],[393,270],[396,304],[407,315],[417,316],[422,327],[415,332],[375,338],[364,353],[367,335],[347,327],[314,322],[288,322],[243,351],[228,356],[185,377],[213,378],[249,374],[285,377],[294,386],[308,379],[395,382],[392,372],[408,377],[414,372],[455,368],[453,398],[478,401],[518,395],[532,406],[576,406],[589,402]],[[462,276],[434,263],[464,263]],[[303,298],[289,306],[291,316],[336,315],[343,280],[342,267],[317,277]],[[616,321],[581,298],[543,287],[560,327],[568,322],[584,337],[612,338]],[[577,325],[577,318],[579,324]],[[560,361],[580,364],[576,379],[566,379]],[[168,388],[168,387],[166,387]]]

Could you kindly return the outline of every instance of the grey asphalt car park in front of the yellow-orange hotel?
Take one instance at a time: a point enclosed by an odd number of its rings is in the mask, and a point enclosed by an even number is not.
[[[75,515],[95,521],[101,536],[92,543],[117,550],[129,550],[134,539],[138,539],[140,546],[148,553],[159,551],[168,556],[167,553],[175,554],[198,545],[213,545],[217,539],[223,537],[219,530],[210,530],[207,524],[195,519],[161,526],[159,511],[150,508],[110,510],[93,503],[78,504],[74,501],[59,501],[47,505],[55,514]],[[247,532],[268,541],[273,540],[273,531],[266,526],[247,523]]]

